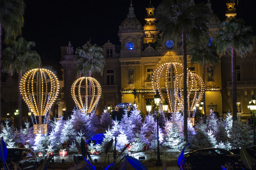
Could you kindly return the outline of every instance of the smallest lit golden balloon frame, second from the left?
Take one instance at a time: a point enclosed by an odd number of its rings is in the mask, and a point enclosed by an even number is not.
[[[89,89],[91,90],[91,94],[88,94]],[[92,77],[81,77],[73,83],[71,94],[75,104],[83,113],[91,113],[93,108],[96,108],[100,99],[101,87],[96,79]],[[90,103],[88,103],[88,98],[91,98]]]

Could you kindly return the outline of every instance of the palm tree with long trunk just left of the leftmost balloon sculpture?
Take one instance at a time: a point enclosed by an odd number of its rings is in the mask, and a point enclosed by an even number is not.
[[[31,50],[35,47],[35,42],[26,41],[23,37],[20,37],[13,43],[12,47],[6,47],[2,50],[3,62],[2,69],[9,75],[18,73],[18,82],[22,79],[22,73],[28,70],[37,68],[41,64],[41,59],[36,51]],[[18,83],[19,86],[19,83]],[[18,127],[22,126],[22,96],[20,88],[18,87]]]

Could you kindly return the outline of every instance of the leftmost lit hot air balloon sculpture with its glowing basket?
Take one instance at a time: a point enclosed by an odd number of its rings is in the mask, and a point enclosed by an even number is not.
[[[23,99],[28,104],[30,112],[38,116],[38,124],[34,124],[34,134],[47,133],[47,124],[42,124],[42,116],[50,111],[51,105],[59,92],[57,77],[47,69],[32,69],[28,71],[20,83]]]

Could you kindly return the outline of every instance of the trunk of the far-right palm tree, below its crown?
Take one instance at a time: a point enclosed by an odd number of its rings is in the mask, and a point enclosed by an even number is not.
[[[233,123],[237,120],[237,98],[236,98],[236,51],[231,47],[231,65],[232,65],[232,106],[233,106]]]

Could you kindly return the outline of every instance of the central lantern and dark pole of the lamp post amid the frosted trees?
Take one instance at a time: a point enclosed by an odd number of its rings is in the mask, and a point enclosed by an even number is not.
[[[157,120],[157,160],[156,160],[156,166],[162,166],[161,159],[160,159],[160,149],[159,149],[159,117],[160,114],[158,113],[158,106],[160,101],[160,95],[158,94],[158,90],[156,91],[156,94],[154,95],[154,100],[156,104],[156,120]]]

